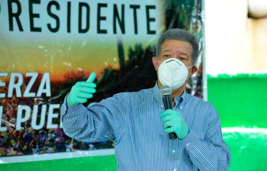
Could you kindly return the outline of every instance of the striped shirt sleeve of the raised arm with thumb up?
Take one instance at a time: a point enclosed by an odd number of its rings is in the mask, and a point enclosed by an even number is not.
[[[61,106],[64,133],[83,142],[119,138],[126,116],[123,97],[123,93],[118,93],[90,107],[84,107],[82,104],[72,107],[67,104],[66,96]]]

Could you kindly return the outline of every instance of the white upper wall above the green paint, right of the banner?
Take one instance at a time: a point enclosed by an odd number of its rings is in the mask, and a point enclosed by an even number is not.
[[[206,73],[267,73],[267,17],[247,17],[247,0],[205,0]]]

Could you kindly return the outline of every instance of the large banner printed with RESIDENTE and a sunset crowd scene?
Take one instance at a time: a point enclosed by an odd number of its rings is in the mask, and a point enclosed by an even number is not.
[[[72,85],[97,73],[90,103],[153,87],[159,34],[193,33],[199,71],[187,92],[203,97],[200,0],[1,0],[0,157],[114,148],[67,137],[60,106]],[[89,105],[89,104],[87,104]]]

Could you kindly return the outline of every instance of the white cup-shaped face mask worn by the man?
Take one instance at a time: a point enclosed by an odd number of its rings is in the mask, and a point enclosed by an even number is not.
[[[158,61],[161,63],[160,61]],[[194,66],[194,65],[192,65]],[[177,89],[182,86],[188,76],[188,69],[180,60],[170,58],[163,61],[158,67],[158,79],[162,85],[168,85],[172,89]]]

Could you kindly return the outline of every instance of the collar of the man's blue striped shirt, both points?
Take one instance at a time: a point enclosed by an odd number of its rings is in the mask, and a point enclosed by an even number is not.
[[[157,81],[156,81],[156,85],[153,88],[153,93],[154,93],[154,98],[156,99],[157,103],[160,105],[160,107],[164,108],[164,104],[162,101],[162,95],[160,93],[160,89],[157,86]],[[175,102],[178,104],[180,103],[180,109],[182,109],[186,103],[186,99],[187,99],[187,93],[184,90],[181,96],[176,96],[174,98]]]

